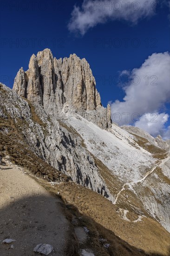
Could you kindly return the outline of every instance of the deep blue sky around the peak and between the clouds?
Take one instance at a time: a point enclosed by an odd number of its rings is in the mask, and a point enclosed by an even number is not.
[[[140,20],[135,26],[124,21],[110,21],[92,28],[83,37],[76,37],[67,29],[75,0],[0,2],[0,80],[11,88],[19,68],[28,69],[31,55],[50,48],[57,58],[75,53],[90,63],[102,103],[106,106],[108,101],[122,101],[124,97],[114,79],[118,71],[140,67],[152,53],[169,51],[170,27],[166,6],[158,6],[156,15]],[[82,2],[77,1],[79,5]],[[128,38],[127,47],[124,38]],[[138,47],[131,45],[136,43],[135,38],[140,42]],[[108,40],[112,42],[111,47],[105,44]],[[115,47],[118,41],[122,45]],[[103,81],[109,76],[111,84]],[[168,108],[166,113],[169,113]]]

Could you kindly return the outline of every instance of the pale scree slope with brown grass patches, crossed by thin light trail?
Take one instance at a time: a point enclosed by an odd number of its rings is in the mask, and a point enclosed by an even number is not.
[[[70,113],[65,115],[65,122],[77,130],[88,150],[103,163],[100,173],[114,196],[113,204],[139,216],[152,216],[170,231],[168,152],[154,145],[151,150],[144,148],[115,125],[102,130]]]

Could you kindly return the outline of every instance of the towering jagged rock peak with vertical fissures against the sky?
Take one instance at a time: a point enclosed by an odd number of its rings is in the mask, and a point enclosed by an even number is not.
[[[13,90],[43,105],[48,114],[59,115],[69,108],[100,128],[111,127],[110,106],[102,106],[92,70],[76,54],[59,60],[49,49],[33,54],[29,69],[24,72],[21,67],[17,73]]]

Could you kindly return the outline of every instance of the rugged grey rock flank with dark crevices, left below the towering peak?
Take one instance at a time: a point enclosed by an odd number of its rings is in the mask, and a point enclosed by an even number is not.
[[[49,115],[40,104],[33,103],[33,106],[44,125],[34,120],[34,113],[25,99],[0,83],[0,122],[14,122],[16,132],[22,137],[20,143],[25,143],[26,148],[71,177],[73,182],[99,194],[104,190],[105,197],[113,200],[105,181],[98,174],[98,167],[92,155],[82,145],[81,136],[62,121],[57,121],[54,116],[49,119]],[[17,130],[18,127],[20,131]],[[0,127],[0,132],[8,135],[9,129]]]

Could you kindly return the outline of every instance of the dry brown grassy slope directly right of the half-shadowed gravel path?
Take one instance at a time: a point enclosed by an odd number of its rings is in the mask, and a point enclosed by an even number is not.
[[[78,225],[87,227],[89,240],[82,248],[91,248],[96,256],[169,255],[169,233],[156,221],[144,218],[141,222],[127,222],[118,215],[118,208],[103,196],[73,182],[51,186],[39,181],[54,195],[60,193],[69,220],[78,219]],[[131,220],[137,219],[129,212]],[[109,249],[105,249],[106,239]],[[140,251],[141,250],[141,251]]]

